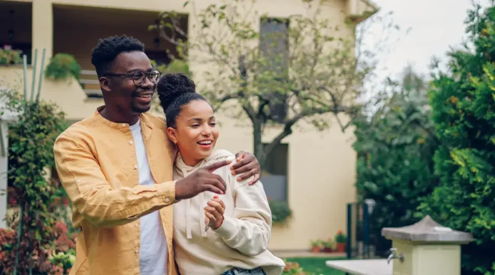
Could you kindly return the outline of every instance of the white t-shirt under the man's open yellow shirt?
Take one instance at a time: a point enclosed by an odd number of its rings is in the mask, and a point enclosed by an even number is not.
[[[141,135],[140,121],[129,126],[134,137],[138,159],[139,184],[154,184]],[[159,211],[141,217],[141,246],[139,248],[139,270],[141,275],[167,275],[167,240]]]

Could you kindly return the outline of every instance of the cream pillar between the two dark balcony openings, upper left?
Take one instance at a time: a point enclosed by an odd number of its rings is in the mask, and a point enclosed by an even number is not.
[[[33,0],[33,58],[38,49],[38,71],[43,48],[47,49],[45,66],[53,55],[53,8],[51,0]],[[32,63],[31,63],[32,64]]]

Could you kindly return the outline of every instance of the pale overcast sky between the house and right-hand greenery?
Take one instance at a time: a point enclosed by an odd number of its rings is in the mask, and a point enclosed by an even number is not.
[[[417,71],[428,74],[433,55],[446,60],[449,46],[459,46],[466,37],[464,20],[471,0],[373,0],[381,14],[394,11],[393,19],[407,35],[391,44],[390,51],[380,55],[379,81],[397,77],[410,62]],[[386,67],[386,69],[383,69]]]

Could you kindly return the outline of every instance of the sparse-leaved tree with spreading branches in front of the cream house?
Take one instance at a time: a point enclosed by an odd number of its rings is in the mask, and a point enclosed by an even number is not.
[[[160,30],[176,45],[179,58],[200,67],[194,73],[200,75],[201,92],[215,110],[229,109],[233,117],[249,119],[262,168],[298,123],[322,130],[329,126],[328,114],[334,114],[344,131],[351,120],[337,115],[359,113],[354,98],[376,65],[371,51],[356,56],[355,24],[333,26],[319,0],[302,0],[307,14],[289,18],[253,12],[252,0],[224,2],[197,13],[197,4],[186,1],[193,10],[190,22],[197,22],[190,34],[177,12],[163,12],[150,29]],[[261,137],[267,125],[281,130],[265,146]]]

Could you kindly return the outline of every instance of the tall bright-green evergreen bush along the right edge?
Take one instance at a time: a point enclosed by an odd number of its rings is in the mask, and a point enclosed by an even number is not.
[[[477,6],[466,20],[473,47],[449,53],[448,73],[434,75],[433,121],[441,186],[424,198],[420,217],[471,232],[462,248],[463,275],[495,273],[495,7]]]

